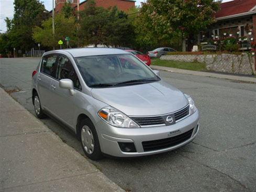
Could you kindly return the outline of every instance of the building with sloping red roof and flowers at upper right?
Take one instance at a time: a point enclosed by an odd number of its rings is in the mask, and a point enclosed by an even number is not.
[[[212,24],[203,37],[199,36],[199,41],[204,38],[224,38],[235,36],[241,41],[240,50],[251,49],[250,42],[256,39],[256,0],[233,0],[220,4],[218,13],[215,14],[216,22]],[[247,40],[244,40],[247,39]]]

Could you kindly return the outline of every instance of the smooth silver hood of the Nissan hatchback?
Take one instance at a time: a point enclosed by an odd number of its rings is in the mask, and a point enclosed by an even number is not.
[[[188,104],[179,89],[164,81],[123,87],[93,88],[92,96],[128,116],[168,114]]]

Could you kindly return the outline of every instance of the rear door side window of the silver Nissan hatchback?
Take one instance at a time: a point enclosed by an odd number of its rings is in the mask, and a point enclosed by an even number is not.
[[[57,55],[47,55],[43,57],[40,72],[55,78],[57,69],[56,59]]]

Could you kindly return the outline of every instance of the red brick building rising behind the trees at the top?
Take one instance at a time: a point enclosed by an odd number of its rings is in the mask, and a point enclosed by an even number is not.
[[[61,11],[63,5],[65,2],[70,2],[71,6],[74,7],[75,10],[77,10],[77,1],[79,0],[55,0],[55,13],[58,13]],[[94,0],[96,2],[96,6],[98,7],[113,7],[117,6],[119,10],[123,10],[124,12],[127,12],[131,7],[135,7],[135,2],[133,0]],[[84,9],[84,5],[86,4],[87,0],[80,0],[79,2],[79,10]]]

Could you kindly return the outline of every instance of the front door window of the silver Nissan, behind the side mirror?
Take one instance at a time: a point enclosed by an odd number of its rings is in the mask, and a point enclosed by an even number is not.
[[[75,73],[75,69],[71,61],[62,55],[60,55],[58,59],[58,69],[56,78],[58,80],[62,80],[63,78],[69,78],[73,81],[75,88],[82,89],[80,81]]]

